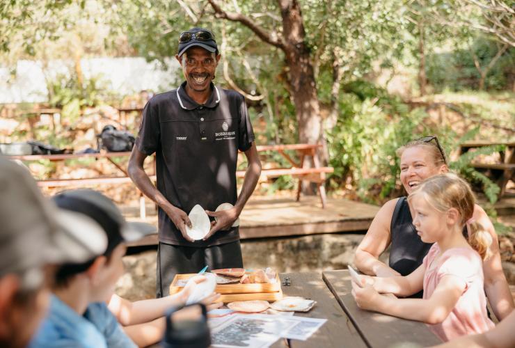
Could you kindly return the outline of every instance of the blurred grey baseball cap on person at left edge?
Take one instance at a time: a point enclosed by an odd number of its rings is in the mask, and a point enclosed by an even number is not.
[[[0,276],[45,264],[86,262],[107,238],[93,219],[58,209],[26,167],[0,155]]]

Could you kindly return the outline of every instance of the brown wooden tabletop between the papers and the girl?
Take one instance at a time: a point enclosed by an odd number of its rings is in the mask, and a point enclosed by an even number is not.
[[[361,310],[351,295],[347,270],[280,274],[288,278],[284,296],[303,296],[317,301],[302,317],[327,319],[308,340],[278,340],[272,347],[427,347],[441,343],[425,324]]]

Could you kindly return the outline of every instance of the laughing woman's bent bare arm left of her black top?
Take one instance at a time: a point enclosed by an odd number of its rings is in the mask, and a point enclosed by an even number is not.
[[[364,274],[370,276],[400,276],[397,271],[379,261],[379,255],[390,245],[390,223],[397,200],[399,198],[389,200],[379,209],[367,234],[356,249],[354,264]]]

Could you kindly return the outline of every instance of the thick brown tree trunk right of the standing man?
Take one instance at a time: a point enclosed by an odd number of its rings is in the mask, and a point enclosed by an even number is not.
[[[301,143],[317,143],[322,139],[322,120],[315,84],[315,72],[306,47],[301,8],[296,0],[280,0],[283,17],[286,64],[290,70],[290,86],[299,125]]]

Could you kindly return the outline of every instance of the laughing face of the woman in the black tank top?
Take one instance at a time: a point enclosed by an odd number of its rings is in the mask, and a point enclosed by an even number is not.
[[[422,146],[413,146],[402,152],[400,177],[408,194],[428,177],[446,172],[447,166],[436,166],[431,152]]]

